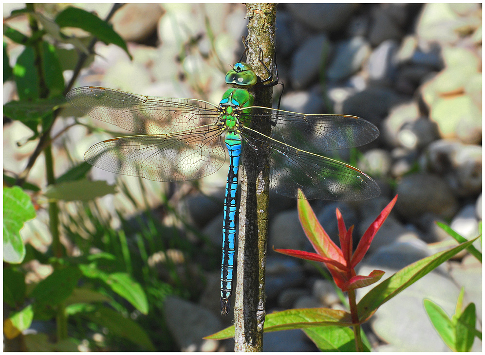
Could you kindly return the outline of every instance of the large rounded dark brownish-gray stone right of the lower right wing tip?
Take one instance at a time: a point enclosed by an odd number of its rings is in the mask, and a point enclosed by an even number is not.
[[[456,197],[439,177],[429,174],[404,176],[397,186],[399,195],[395,209],[405,218],[417,218],[432,212],[443,218],[453,216],[458,209]]]

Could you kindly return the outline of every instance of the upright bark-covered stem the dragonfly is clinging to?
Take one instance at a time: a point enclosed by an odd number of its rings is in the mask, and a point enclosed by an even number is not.
[[[276,4],[247,4],[248,53],[247,63],[262,79],[269,74],[259,61],[260,48],[265,65],[274,68]],[[255,90],[255,106],[271,107],[272,88]],[[268,122],[251,127],[271,134]],[[263,325],[266,317],[264,273],[266,264],[268,205],[269,205],[269,151],[266,147],[246,146],[242,153],[240,170],[241,207],[239,214],[239,246],[237,285],[234,304],[235,351],[262,351]],[[262,153],[265,152],[265,153]]]

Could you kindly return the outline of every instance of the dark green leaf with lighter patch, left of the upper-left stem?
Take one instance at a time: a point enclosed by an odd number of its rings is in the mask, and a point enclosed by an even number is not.
[[[23,52],[20,53],[13,72],[20,100],[37,99],[39,97],[39,83],[32,47],[25,47]]]

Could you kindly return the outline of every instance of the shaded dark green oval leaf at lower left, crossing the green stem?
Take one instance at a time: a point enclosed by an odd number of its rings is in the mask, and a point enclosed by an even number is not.
[[[37,284],[30,297],[37,300],[37,305],[56,305],[65,301],[73,293],[80,278],[81,271],[74,266],[54,270]]]

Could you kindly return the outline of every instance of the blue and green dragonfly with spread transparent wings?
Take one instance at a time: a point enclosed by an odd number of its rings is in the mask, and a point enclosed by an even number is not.
[[[91,165],[122,175],[155,181],[187,181],[219,170],[229,156],[225,186],[221,314],[230,310],[236,234],[236,195],[243,149],[270,150],[270,188],[298,198],[365,200],[380,189],[362,171],[324,153],[372,142],[379,131],[372,123],[349,115],[316,115],[253,106],[251,89],[274,86],[241,59],[225,76],[230,86],[218,105],[204,100],[153,97],[102,87],[81,87],[67,101],[95,119],[136,135],[94,144],[84,154]],[[271,134],[251,128],[270,122]]]

